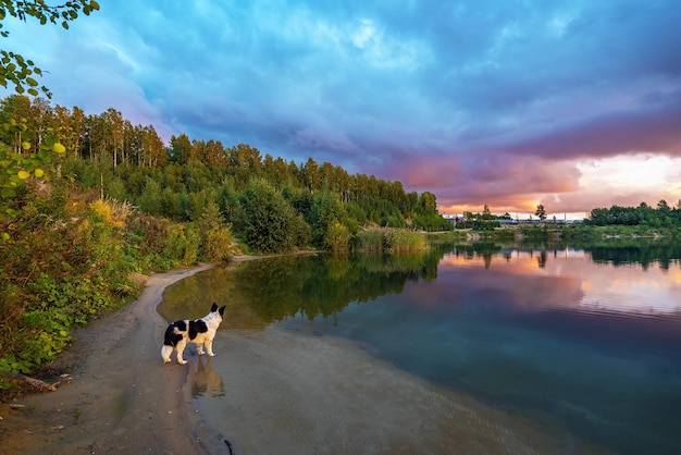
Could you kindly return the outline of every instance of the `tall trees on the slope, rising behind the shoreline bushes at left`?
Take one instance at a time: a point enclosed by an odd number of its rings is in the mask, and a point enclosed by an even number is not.
[[[335,238],[338,226],[346,231],[342,248],[351,246],[352,236],[368,224],[450,229],[430,192],[408,193],[398,181],[350,174],[312,158],[296,163],[262,156],[247,144],[226,147],[179,134],[165,145],[152,125],[133,125],[113,108],[88,115],[77,107],[14,95],[0,102],[0,124],[11,122],[25,128],[0,131],[5,148],[21,153],[26,144],[35,149],[55,134],[65,149],[61,175],[82,188],[177,222],[195,222],[216,205],[235,235],[263,253],[308,244],[338,247],[326,242],[333,226]],[[282,232],[270,232],[276,229]]]

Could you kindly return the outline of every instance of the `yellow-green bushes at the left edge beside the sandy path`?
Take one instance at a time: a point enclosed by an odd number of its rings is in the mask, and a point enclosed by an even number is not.
[[[27,371],[52,359],[72,329],[139,290],[129,279],[134,265],[122,247],[121,213],[99,200],[57,208],[63,193],[57,187],[35,194],[7,225],[9,238],[0,245],[0,372]]]

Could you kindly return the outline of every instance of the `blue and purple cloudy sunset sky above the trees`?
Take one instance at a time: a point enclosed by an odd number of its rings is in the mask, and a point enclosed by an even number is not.
[[[446,213],[681,200],[679,0],[99,4],[69,30],[4,21],[53,106],[400,181]]]

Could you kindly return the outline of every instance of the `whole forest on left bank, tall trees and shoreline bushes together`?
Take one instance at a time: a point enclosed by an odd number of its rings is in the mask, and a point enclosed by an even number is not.
[[[72,329],[134,298],[136,274],[239,253],[421,249],[419,231],[453,229],[435,195],[400,182],[246,144],[164,144],[115,109],[23,95],[0,101],[0,376],[54,358]]]

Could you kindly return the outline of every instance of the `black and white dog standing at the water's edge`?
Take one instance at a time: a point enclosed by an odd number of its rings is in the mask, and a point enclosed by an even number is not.
[[[224,315],[225,307],[218,308],[218,304],[213,304],[210,308],[210,312],[201,319],[194,321],[184,320],[175,321],[165,330],[165,337],[163,340],[163,347],[161,347],[161,357],[165,364],[170,362],[170,356],[173,354],[173,349],[177,349],[177,362],[185,365],[187,360],[182,358],[182,353],[185,351],[187,342],[196,343],[198,345],[199,355],[203,355],[203,345],[206,345],[206,352],[209,356],[213,354],[213,339],[220,322],[222,322],[222,315]]]

